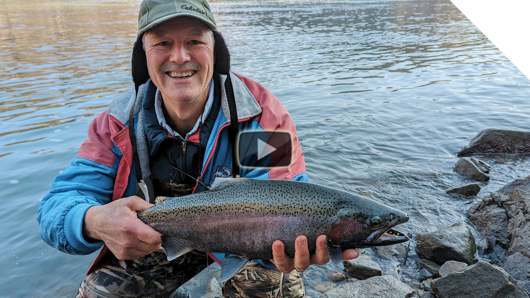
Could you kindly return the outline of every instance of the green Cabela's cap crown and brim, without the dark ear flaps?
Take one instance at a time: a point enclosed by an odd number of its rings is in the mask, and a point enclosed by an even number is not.
[[[176,16],[195,17],[217,30],[210,5],[205,0],[144,0],[138,13],[138,36]]]

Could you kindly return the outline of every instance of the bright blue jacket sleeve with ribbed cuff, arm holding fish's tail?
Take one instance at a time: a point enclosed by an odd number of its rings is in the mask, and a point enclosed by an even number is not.
[[[83,220],[91,206],[112,200],[118,164],[114,162],[113,167],[108,167],[85,158],[75,158],[55,178],[37,211],[41,237],[48,245],[74,255],[91,254],[103,246],[103,241],[84,239]]]

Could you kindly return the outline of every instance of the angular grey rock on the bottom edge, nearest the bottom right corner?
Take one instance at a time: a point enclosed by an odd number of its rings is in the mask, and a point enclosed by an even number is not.
[[[435,279],[432,290],[438,298],[528,298],[504,269],[479,261],[460,272]]]

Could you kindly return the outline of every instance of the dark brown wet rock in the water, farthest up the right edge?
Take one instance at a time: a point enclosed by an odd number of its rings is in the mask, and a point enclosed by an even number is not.
[[[530,152],[530,132],[486,129],[471,139],[468,146],[458,152],[458,157],[475,153],[516,154]]]

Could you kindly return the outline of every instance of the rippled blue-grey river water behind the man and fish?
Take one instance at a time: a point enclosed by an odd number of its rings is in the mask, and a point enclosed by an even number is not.
[[[139,2],[0,0],[0,296],[72,297],[95,257],[48,247],[36,212],[131,87]],[[449,1],[211,6],[232,69],[295,120],[311,181],[406,211],[401,230],[467,222],[478,198],[445,193],[469,183],[456,152],[483,129],[530,130],[530,81]],[[479,197],[530,174],[524,159],[488,162]]]

